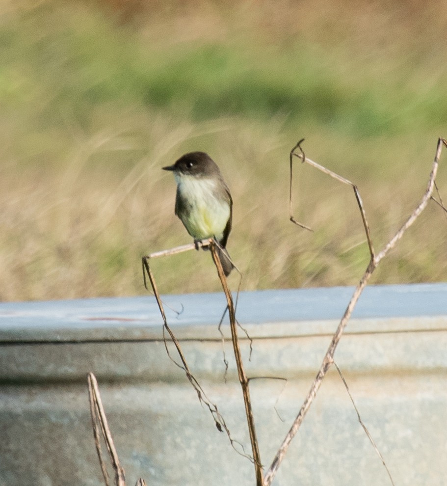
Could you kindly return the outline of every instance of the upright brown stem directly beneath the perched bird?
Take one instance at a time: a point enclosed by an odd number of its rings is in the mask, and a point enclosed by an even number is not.
[[[223,291],[225,292],[225,297],[227,298],[228,313],[230,317],[231,340],[235,352],[237,376],[239,378],[239,383],[242,388],[242,395],[243,395],[244,405],[245,405],[245,414],[247,416],[248,432],[250,434],[250,443],[252,447],[253,459],[255,465],[256,485],[263,486],[264,485],[263,467],[261,464],[261,455],[259,453],[258,439],[256,438],[255,419],[253,417],[253,409],[250,401],[249,380],[247,378],[247,375],[245,374],[245,370],[243,367],[242,355],[239,346],[239,339],[237,337],[237,322],[236,322],[236,313],[235,313],[235,306],[233,303],[233,297],[231,295],[230,289],[228,288],[227,279],[225,278],[225,274],[222,269],[222,264],[220,262],[219,256],[217,255],[216,246],[214,242],[210,243],[210,250],[211,250],[212,259],[217,269],[217,273],[222,283]]]

